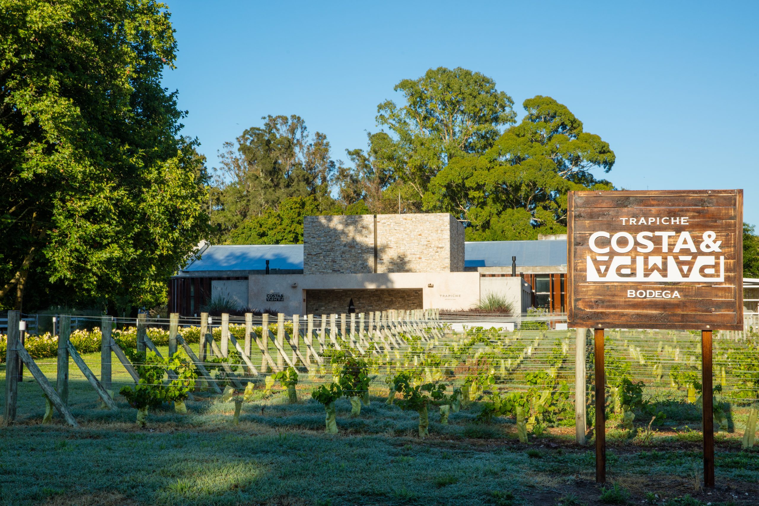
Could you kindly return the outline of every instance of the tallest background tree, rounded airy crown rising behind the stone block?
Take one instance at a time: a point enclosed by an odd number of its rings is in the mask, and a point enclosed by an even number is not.
[[[406,105],[387,100],[376,121],[392,137],[370,137],[376,170],[392,172],[421,201],[430,181],[457,157],[476,156],[496,142],[499,127],[512,124],[514,101],[479,72],[439,67],[395,86]],[[376,141],[376,142],[375,142]]]

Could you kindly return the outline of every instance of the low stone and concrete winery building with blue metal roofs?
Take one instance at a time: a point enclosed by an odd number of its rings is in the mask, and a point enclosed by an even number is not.
[[[516,276],[512,276],[512,272]],[[203,245],[169,285],[169,310],[212,297],[286,314],[467,310],[500,294],[516,312],[565,312],[565,236],[465,242],[446,213],[307,216],[304,244]]]

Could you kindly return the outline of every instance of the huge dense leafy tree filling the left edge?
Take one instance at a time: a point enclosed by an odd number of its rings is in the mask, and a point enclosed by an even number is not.
[[[165,6],[0,0],[0,33],[0,301],[21,309],[30,278],[68,302],[165,300],[208,219],[203,160],[161,86]]]

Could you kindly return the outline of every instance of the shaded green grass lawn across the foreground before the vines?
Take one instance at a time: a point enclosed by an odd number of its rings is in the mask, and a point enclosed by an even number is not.
[[[99,374],[99,354],[84,357]],[[52,382],[54,361],[38,361]],[[128,381],[117,364],[115,381]],[[578,448],[572,426],[521,445],[510,419],[474,423],[474,404],[452,413],[448,426],[430,413],[430,437],[420,441],[417,413],[387,406],[386,386],[376,382],[360,418],[349,418],[348,401],[338,401],[341,432],[334,436],[324,434],[324,410],[308,385],[299,404],[285,404],[283,394],[244,404],[238,426],[231,424],[233,403],[200,393],[187,402],[186,416],[154,411],[148,427],[138,429],[136,410],[121,396],[117,412],[99,410],[73,362],[70,370],[77,429],[57,413],[52,425],[40,425],[39,386],[28,372],[19,385],[17,423],[0,429],[2,504],[603,504],[592,439]],[[686,494],[703,504],[759,504],[759,448],[741,451],[740,431],[718,435],[717,488],[697,491],[698,410],[679,403],[664,409],[669,426],[649,441],[609,421],[609,482],[628,491],[631,504],[641,504],[646,492],[672,506],[701,504],[674,500]],[[745,417],[731,414],[733,425]]]

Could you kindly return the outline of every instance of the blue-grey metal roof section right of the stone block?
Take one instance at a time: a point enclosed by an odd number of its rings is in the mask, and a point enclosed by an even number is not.
[[[464,244],[465,267],[507,267],[517,257],[518,267],[565,266],[567,241],[483,240]]]

